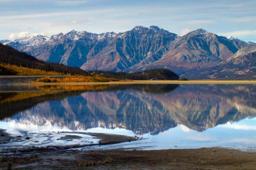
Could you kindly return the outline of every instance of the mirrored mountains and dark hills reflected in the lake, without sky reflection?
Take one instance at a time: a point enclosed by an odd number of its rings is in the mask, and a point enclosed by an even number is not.
[[[205,131],[256,116],[256,85],[1,86],[0,119],[86,130]]]

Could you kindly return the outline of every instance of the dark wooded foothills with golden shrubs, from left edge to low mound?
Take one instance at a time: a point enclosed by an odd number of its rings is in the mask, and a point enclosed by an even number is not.
[[[0,75],[84,75],[89,77],[101,76],[116,79],[131,80],[178,80],[179,76],[168,69],[150,69],[142,72],[110,72],[92,71],[86,72],[78,67],[66,66],[54,62],[45,62],[27,54],[13,49],[10,46],[0,43]],[[32,82],[37,77],[32,78],[0,78],[0,84],[14,82]],[[102,78],[100,78],[103,80]],[[113,80],[113,79],[112,79]],[[49,81],[49,79],[44,80]],[[96,81],[96,80],[94,80]]]

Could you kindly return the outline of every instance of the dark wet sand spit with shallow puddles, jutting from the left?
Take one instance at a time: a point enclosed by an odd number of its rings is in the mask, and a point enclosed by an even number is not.
[[[15,146],[11,147],[8,150],[0,150],[0,157],[2,156],[23,156],[23,155],[31,155],[35,153],[47,153],[47,152],[57,152],[57,151],[63,151],[66,152],[67,150],[77,150],[77,148],[82,147],[93,147],[93,146],[101,146],[101,145],[110,145],[110,144],[119,144],[123,142],[131,142],[140,140],[136,137],[130,137],[125,135],[118,135],[118,134],[104,134],[104,133],[90,133],[90,132],[58,132],[59,134],[72,134],[72,135],[65,135],[63,137],[58,138],[57,140],[73,140],[73,139],[79,139],[82,138],[78,136],[79,134],[85,134],[90,135],[94,139],[99,139],[99,143],[91,143],[91,144],[71,144],[71,145],[49,145],[47,147],[36,147],[36,146],[30,146],[30,147],[20,147]],[[77,135],[76,135],[77,134]],[[26,138],[25,138],[26,137]],[[19,140],[26,140],[30,139],[30,136],[13,136],[11,134],[6,133],[6,130],[0,129],[0,144],[8,144],[9,142],[13,141],[19,141]],[[1,146],[1,145],[0,145]]]

